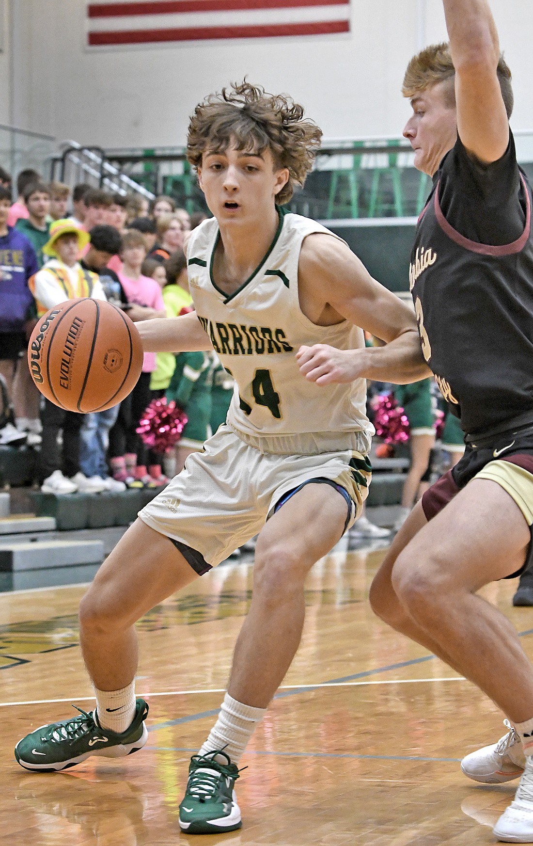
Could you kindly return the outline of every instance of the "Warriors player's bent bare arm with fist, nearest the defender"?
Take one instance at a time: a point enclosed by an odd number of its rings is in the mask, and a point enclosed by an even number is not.
[[[310,382],[328,385],[365,378],[407,384],[431,376],[415,311],[376,282],[346,244],[326,234],[305,239],[299,296],[314,322],[326,313],[330,318],[337,314],[385,341],[384,347],[370,349],[334,349],[323,343],[301,347],[296,357]]]

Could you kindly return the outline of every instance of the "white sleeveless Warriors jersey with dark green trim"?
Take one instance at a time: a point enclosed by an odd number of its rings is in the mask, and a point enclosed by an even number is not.
[[[311,233],[337,238],[307,217],[280,214],[277,233],[260,266],[229,295],[217,288],[212,277],[220,237],[217,220],[204,221],[190,237],[190,294],[218,357],[236,382],[228,425],[248,442],[265,437],[280,442],[280,436],[309,433],[320,445],[332,442],[335,433],[342,448],[353,444],[356,432],[365,433],[365,441],[373,433],[365,414],[365,379],[319,386],[299,371],[296,353],[302,344],[327,343],[338,349],[365,346],[363,330],[349,321],[316,326],[299,307],[299,251]],[[296,442],[305,443],[305,437],[296,437]],[[314,450],[304,446],[302,451]]]

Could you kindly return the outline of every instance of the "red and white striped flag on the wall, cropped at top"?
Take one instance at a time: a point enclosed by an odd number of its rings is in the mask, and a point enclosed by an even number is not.
[[[88,3],[89,47],[349,32],[350,0]]]

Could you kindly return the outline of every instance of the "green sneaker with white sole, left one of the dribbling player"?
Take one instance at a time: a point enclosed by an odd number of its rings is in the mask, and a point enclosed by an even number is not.
[[[76,708],[75,705],[73,707]],[[102,728],[96,709],[89,714],[81,708],[76,710],[80,711],[80,717],[51,722],[19,740],[15,746],[15,758],[20,766],[41,772],[66,770],[90,755],[122,758],[139,751],[146,744],[148,730],[144,721],[148,706],[143,699],[137,700],[135,719],[122,734]]]

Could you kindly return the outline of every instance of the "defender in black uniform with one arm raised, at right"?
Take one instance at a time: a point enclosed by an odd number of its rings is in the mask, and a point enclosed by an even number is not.
[[[494,832],[533,843],[533,669],[508,620],[476,593],[533,567],[533,197],[488,3],[442,2],[449,47],[415,56],[404,79],[404,135],[433,178],[409,282],[424,357],[466,450],[398,532],[371,604],[512,722],[505,743],[462,769],[484,782],[523,773]]]

